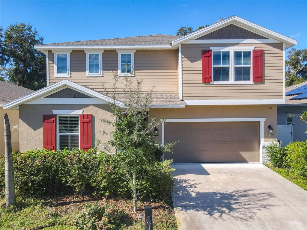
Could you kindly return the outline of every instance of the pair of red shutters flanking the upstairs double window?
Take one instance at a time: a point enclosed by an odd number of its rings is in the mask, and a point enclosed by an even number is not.
[[[212,50],[202,50],[202,79],[203,82],[212,82]],[[254,49],[252,53],[253,82],[263,82],[263,51]]]

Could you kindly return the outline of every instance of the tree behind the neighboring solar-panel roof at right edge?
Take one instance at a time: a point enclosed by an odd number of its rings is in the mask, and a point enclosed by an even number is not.
[[[307,49],[288,51],[286,87],[307,81]]]

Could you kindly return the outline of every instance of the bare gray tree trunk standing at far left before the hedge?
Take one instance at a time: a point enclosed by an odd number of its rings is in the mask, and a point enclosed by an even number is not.
[[[5,204],[15,205],[14,168],[12,156],[12,140],[10,121],[7,114],[4,114],[4,144],[5,144]]]

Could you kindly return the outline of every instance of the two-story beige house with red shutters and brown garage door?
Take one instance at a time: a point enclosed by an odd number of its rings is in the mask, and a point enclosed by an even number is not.
[[[285,49],[296,44],[237,16],[182,37],[40,44],[48,86],[4,107],[19,106],[21,151],[91,148],[110,138],[99,132],[112,130],[100,118],[115,119],[102,82],[110,89],[112,71],[122,75],[129,63],[144,92],[155,86],[149,115],[167,118],[157,141],[179,141],[165,159],[264,162],[262,149],[277,141],[277,105],[285,103]]]

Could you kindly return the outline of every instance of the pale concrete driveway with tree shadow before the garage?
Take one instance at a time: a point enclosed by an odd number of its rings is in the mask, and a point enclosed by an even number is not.
[[[172,164],[180,230],[307,229],[307,191],[262,164]]]

